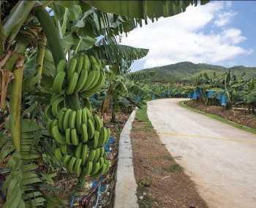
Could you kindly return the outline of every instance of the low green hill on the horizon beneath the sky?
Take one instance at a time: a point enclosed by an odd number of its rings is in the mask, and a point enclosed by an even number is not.
[[[256,77],[256,67],[246,67],[246,66],[217,66],[207,63],[192,63],[189,61],[174,63],[166,66],[158,66],[150,69],[142,69],[154,71],[155,75],[150,78],[149,81],[152,82],[187,82],[192,80],[198,74],[206,72],[211,75],[214,72],[217,74],[222,74],[231,70],[236,75],[241,75],[244,72],[246,77]]]

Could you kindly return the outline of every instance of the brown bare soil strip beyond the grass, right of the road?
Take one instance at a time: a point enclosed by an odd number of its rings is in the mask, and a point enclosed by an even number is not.
[[[223,110],[222,107],[219,106],[207,106],[205,104],[196,103],[195,101],[184,101],[184,104],[202,112],[217,115],[221,118],[233,121],[241,126],[256,129],[256,116],[252,113],[235,109]]]

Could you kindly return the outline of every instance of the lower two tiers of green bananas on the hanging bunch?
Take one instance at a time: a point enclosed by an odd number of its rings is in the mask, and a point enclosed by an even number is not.
[[[61,99],[60,99],[61,98]],[[53,105],[45,108],[47,128],[56,140],[55,156],[71,173],[97,177],[105,174],[110,166],[105,158],[105,143],[110,129],[103,126],[98,115],[92,115],[87,107],[72,110],[58,106],[63,98],[53,99]]]

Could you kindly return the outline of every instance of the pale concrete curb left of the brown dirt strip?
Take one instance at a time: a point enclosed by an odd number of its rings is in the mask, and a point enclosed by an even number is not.
[[[137,109],[132,111],[120,134],[118,166],[116,174],[115,208],[138,208],[137,183],[132,163],[132,142],[130,131]]]

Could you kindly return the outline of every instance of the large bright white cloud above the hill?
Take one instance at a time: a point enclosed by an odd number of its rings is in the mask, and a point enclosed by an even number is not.
[[[179,61],[220,64],[238,55],[252,53],[240,47],[246,38],[238,28],[222,28],[206,34],[204,28],[218,20],[225,9],[223,1],[214,1],[170,18],[160,18],[131,31],[121,44],[148,48],[140,60],[143,68],[164,66]],[[227,24],[226,24],[227,26]]]

